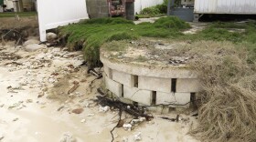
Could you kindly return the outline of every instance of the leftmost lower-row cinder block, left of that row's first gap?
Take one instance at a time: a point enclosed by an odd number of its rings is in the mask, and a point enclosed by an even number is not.
[[[122,84],[113,81],[108,76],[105,76],[105,84],[106,88],[109,89],[113,94],[115,94],[118,97],[122,96]]]

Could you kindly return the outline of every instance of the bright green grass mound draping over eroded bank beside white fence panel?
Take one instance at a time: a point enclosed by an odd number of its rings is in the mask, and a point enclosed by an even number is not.
[[[100,46],[106,42],[146,37],[175,37],[190,25],[176,17],[164,17],[155,24],[134,25],[123,18],[99,18],[86,20],[76,25],[60,27],[60,35],[68,36],[70,50],[82,48],[90,66],[100,65]]]

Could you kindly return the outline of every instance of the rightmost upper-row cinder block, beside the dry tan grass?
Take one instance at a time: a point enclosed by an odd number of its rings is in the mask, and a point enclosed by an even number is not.
[[[191,93],[191,92],[199,92],[199,91],[200,91],[200,83],[198,79],[178,78],[176,80],[176,92]]]

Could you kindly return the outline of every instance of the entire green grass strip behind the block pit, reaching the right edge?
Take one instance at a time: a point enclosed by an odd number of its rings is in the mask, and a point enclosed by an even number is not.
[[[100,65],[100,47],[106,42],[135,40],[140,37],[160,37],[182,41],[230,41],[245,46],[250,51],[249,62],[256,61],[256,22],[248,24],[213,23],[194,35],[184,35],[182,31],[190,25],[174,16],[162,17],[152,23],[134,25],[123,18],[99,18],[86,20],[76,25],[60,27],[60,35],[68,37],[70,50],[83,49],[90,66]],[[245,32],[229,31],[244,29]],[[112,49],[114,50],[114,49]]]

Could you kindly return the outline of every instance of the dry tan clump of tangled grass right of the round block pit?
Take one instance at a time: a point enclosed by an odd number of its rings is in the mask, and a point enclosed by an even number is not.
[[[203,88],[199,125],[190,134],[201,141],[256,141],[256,62],[248,63],[247,48],[201,41],[178,50],[190,56]]]

